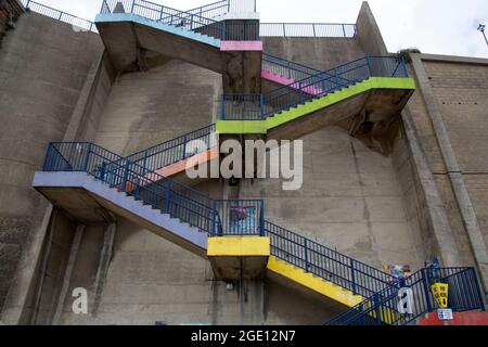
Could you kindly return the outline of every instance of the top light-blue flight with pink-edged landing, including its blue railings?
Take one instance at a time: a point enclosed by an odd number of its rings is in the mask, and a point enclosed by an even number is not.
[[[259,23],[205,16],[221,15],[224,5],[185,12],[145,0],[103,0],[95,24],[117,72],[146,70],[178,59],[221,74],[226,92],[258,92]]]

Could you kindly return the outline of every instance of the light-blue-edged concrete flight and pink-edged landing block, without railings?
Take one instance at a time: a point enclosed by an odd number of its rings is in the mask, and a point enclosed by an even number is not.
[[[260,92],[261,41],[224,41],[129,13],[99,14],[95,24],[117,72],[149,69],[157,53],[162,64],[177,59],[222,74],[224,93]]]

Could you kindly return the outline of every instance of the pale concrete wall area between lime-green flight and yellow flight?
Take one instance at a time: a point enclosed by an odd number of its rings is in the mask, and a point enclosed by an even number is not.
[[[374,267],[422,267],[421,234],[407,217],[393,158],[371,151],[338,127],[301,140],[300,190],[283,191],[281,179],[245,180],[240,197],[265,198],[269,220]]]

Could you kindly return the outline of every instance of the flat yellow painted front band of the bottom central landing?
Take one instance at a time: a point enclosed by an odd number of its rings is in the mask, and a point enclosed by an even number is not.
[[[260,236],[208,237],[208,257],[268,257],[270,239]]]

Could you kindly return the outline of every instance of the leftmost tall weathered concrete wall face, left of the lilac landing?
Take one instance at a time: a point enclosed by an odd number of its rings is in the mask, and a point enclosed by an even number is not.
[[[31,188],[46,144],[62,140],[102,42],[92,33],[26,13],[0,50],[0,306],[46,201]],[[34,259],[33,259],[34,260]]]

